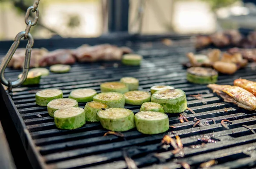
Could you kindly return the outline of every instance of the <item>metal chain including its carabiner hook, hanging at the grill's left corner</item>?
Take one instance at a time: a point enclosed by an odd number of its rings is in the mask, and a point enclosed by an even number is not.
[[[25,31],[21,31],[18,33],[14,39],[14,42],[12,43],[11,48],[7,52],[6,56],[3,59],[3,62],[0,65],[0,82],[3,83],[3,85],[8,86],[9,90],[12,90],[12,87],[18,87],[20,86],[25,80],[26,77],[29,73],[29,62],[30,62],[30,56],[31,56],[31,51],[32,47],[34,45],[34,38],[32,35],[29,33],[30,28],[32,26],[35,26],[38,18],[39,18],[39,10],[38,10],[38,4],[40,0],[35,0],[33,6],[30,6],[25,14],[25,23],[26,23],[26,28]],[[34,20],[29,20],[29,14],[30,11],[32,13],[35,12],[35,18]],[[8,79],[8,81],[4,77],[4,70],[6,69],[7,65],[9,64],[10,60],[12,59],[13,54],[15,53],[16,49],[18,48],[20,44],[20,39],[28,39],[28,43],[26,45],[26,55],[25,55],[25,61],[24,61],[24,66],[23,66],[23,72],[22,76],[20,79],[12,82],[11,79]]]

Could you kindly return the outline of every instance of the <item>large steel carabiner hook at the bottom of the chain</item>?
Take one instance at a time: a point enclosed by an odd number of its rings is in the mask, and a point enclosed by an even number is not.
[[[3,85],[8,86],[8,81],[4,77],[4,70],[6,69],[7,65],[9,64],[10,60],[12,59],[13,54],[15,53],[16,49],[18,48],[18,46],[20,44],[20,39],[23,38],[25,36],[25,34],[26,34],[25,31],[21,31],[20,33],[18,33],[16,35],[11,48],[7,52],[6,56],[3,59],[3,62],[0,65],[0,80],[3,83]],[[25,82],[26,77],[28,76],[30,56],[31,56],[32,47],[34,45],[34,38],[32,37],[31,34],[28,34],[28,40],[29,41],[26,45],[26,55],[25,55],[25,60],[24,60],[22,76],[20,77],[20,79],[17,79],[16,81],[12,82],[12,87],[20,86],[23,82]]]

